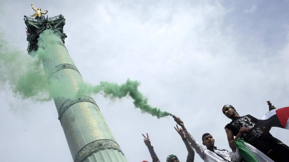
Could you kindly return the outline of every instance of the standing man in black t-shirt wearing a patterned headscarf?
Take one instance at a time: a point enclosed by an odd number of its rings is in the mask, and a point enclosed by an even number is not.
[[[271,106],[274,108],[274,106]],[[222,108],[226,117],[232,121],[225,126],[229,146],[231,149],[236,148],[234,141],[239,137],[248,142],[274,161],[288,161],[289,147],[283,142],[274,138],[270,133],[271,127],[254,127],[258,119],[251,115],[239,116],[232,105],[225,105]],[[234,138],[234,136],[236,136]]]

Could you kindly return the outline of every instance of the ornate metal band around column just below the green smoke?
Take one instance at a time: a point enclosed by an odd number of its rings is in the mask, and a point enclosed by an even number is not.
[[[60,106],[59,111],[58,111],[58,119],[60,120],[60,123],[61,123],[61,117],[62,117],[63,113],[65,112],[65,110],[67,108],[69,108],[70,106],[72,106],[73,104],[78,103],[78,102],[90,102],[90,103],[93,103],[97,106],[94,99],[89,97],[89,96],[82,96],[82,97],[77,98],[76,100],[67,99],[66,101],[64,101],[62,103],[62,105]]]

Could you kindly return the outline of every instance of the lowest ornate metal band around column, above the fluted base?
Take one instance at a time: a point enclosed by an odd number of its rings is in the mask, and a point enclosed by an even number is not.
[[[96,140],[85,145],[76,154],[74,158],[74,162],[82,162],[87,156],[90,156],[92,153],[95,153],[99,150],[104,150],[104,149],[115,149],[122,153],[119,145],[115,141],[112,141],[109,139],[101,139],[101,140]]]

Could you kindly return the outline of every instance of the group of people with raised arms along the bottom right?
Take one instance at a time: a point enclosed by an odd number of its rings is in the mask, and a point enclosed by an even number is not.
[[[269,105],[269,109],[272,110],[275,107]],[[255,127],[258,121],[257,118],[251,115],[239,116],[236,109],[231,105],[223,106],[222,112],[227,118],[232,120],[225,126],[229,147],[232,151],[217,149],[214,145],[215,139],[210,133],[204,133],[202,136],[202,144],[206,146],[206,149],[203,148],[185,128],[184,122],[180,118],[173,116],[177,123],[175,130],[182,138],[188,151],[186,162],[194,161],[195,152],[205,162],[249,162],[255,161],[255,159],[268,162],[289,161],[289,147],[269,133],[271,127]],[[146,136],[144,134],[142,136],[144,137],[144,143],[150,152],[152,161],[160,162],[151,145],[148,133]],[[239,146],[236,144],[238,140],[244,141],[246,146],[256,150],[257,153],[251,154],[247,150],[244,151],[244,148],[236,147]],[[176,155],[171,154],[166,158],[166,162],[179,162],[179,160]]]

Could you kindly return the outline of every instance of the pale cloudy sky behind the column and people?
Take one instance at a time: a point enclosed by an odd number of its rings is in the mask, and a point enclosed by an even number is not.
[[[0,1],[1,32],[27,55],[23,16],[31,1]],[[229,149],[221,112],[262,117],[266,101],[289,106],[288,1],[34,1],[48,16],[62,14],[67,47],[84,81],[141,81],[152,106],[183,119],[201,141]],[[53,101],[33,103],[1,85],[1,161],[73,161]],[[149,133],[161,161],[186,148],[173,118],[157,119],[135,109],[132,99],[93,96],[128,162],[151,161],[142,133]],[[286,99],[287,98],[287,99]],[[289,144],[289,132],[272,128]],[[196,162],[201,158],[196,154]]]

